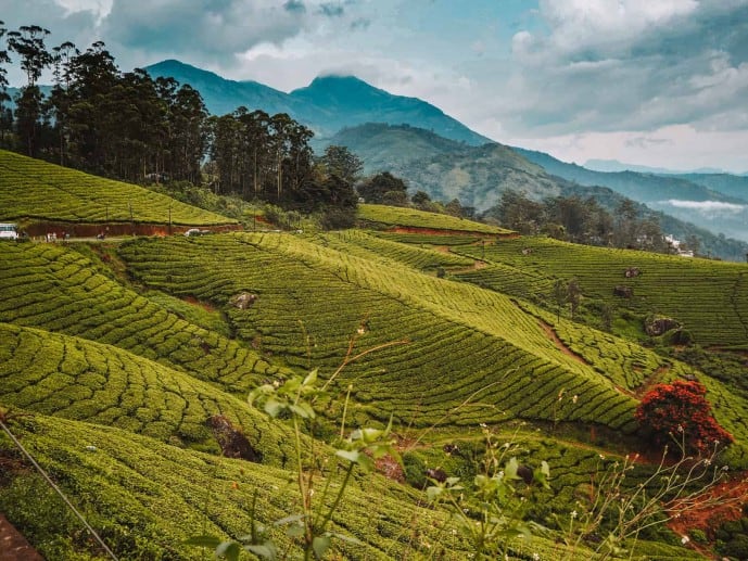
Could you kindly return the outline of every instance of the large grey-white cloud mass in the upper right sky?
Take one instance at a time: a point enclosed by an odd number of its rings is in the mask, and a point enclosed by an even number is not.
[[[511,97],[496,103],[509,130],[707,128],[745,113],[746,0],[544,0],[538,17],[511,40]]]

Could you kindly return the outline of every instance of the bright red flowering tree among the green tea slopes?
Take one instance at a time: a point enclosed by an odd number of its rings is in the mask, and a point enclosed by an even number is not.
[[[636,408],[642,433],[658,446],[674,437],[684,443],[687,454],[709,455],[715,445],[732,443],[733,436],[712,417],[706,394],[699,382],[657,384]]]

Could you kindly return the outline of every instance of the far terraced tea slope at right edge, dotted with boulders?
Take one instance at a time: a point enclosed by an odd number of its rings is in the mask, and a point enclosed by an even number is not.
[[[748,341],[745,264],[589,247],[546,238],[500,240],[482,247],[464,246],[456,253],[487,264],[460,273],[461,280],[547,299],[548,286],[556,279],[575,278],[584,296],[616,308],[672,317],[701,345],[740,346]],[[518,278],[531,280],[518,284]],[[616,295],[617,286],[627,289],[630,297]]]

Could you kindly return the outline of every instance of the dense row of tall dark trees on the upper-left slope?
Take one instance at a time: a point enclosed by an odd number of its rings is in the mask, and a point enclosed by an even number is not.
[[[342,146],[316,158],[313,131],[288,114],[210,115],[189,85],[140,68],[123,73],[102,41],[50,49],[49,35],[0,22],[0,148],[130,182],[207,183],[216,194],[283,208],[355,209],[360,161]],[[13,63],[26,82],[11,100]],[[38,84],[45,72],[51,89]]]

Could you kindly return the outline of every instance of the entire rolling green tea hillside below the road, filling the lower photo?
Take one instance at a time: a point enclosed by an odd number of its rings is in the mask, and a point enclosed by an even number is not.
[[[538,173],[492,148],[486,158]],[[56,169],[23,162],[27,177]],[[28,199],[40,190],[50,208],[85,213],[47,184],[26,183]],[[344,559],[465,559],[477,546],[453,506],[478,515],[485,500],[546,528],[503,537],[509,559],[598,559],[614,526],[559,521],[592,515],[585,497],[605,487],[589,481],[621,464],[622,496],[658,496],[671,468],[647,451],[634,411],[676,380],[698,379],[735,438],[714,476],[748,469],[745,265],[407,208],[362,205],[358,218],[365,229],[0,244],[0,420],[121,559],[204,559],[185,539],[250,536],[256,522],[301,554],[304,497],[334,507],[321,537]],[[555,296],[572,277],[574,315]],[[648,335],[651,314],[680,330]],[[0,510],[47,558],[101,558],[4,432],[0,463]],[[518,466],[533,475],[502,487],[515,500],[453,505],[424,490],[444,473],[461,497]],[[316,495],[300,495],[306,481]],[[646,509],[667,514],[659,500]],[[621,540],[634,559],[702,559],[664,525]]]

